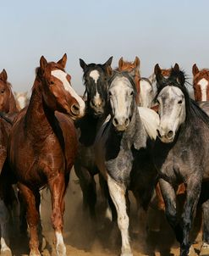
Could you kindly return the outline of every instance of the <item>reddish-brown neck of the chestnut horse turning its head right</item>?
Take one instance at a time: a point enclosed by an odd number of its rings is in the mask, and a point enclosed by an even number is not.
[[[43,101],[40,85],[34,86],[25,114],[25,127],[31,136],[46,138],[53,133],[54,112]]]

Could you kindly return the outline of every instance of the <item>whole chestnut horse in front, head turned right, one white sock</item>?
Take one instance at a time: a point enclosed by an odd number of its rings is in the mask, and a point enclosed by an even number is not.
[[[20,112],[8,139],[8,163],[26,203],[30,256],[41,255],[37,225],[43,186],[51,192],[56,250],[58,255],[66,255],[64,194],[78,147],[73,120],[85,113],[85,103],[70,86],[71,77],[64,70],[66,61],[66,54],[58,63],[41,57],[29,106]]]

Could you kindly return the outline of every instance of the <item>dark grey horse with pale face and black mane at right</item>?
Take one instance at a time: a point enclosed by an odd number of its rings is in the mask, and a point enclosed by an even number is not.
[[[184,72],[179,70],[178,64],[174,65],[168,78],[162,75],[159,65],[156,64],[155,75],[160,124],[153,161],[159,175],[168,223],[180,243],[180,255],[186,256],[190,252],[189,234],[201,196],[201,187],[209,175],[209,117],[190,98],[185,87]],[[186,196],[179,219],[175,191],[181,183],[185,185]],[[209,203],[207,199],[202,204],[206,219]],[[205,225],[201,253],[207,253],[201,255],[208,255],[208,230]]]

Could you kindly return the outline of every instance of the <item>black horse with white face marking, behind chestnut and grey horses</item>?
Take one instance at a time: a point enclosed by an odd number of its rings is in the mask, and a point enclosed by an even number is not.
[[[96,219],[96,181],[94,176],[99,173],[93,145],[96,131],[102,123],[102,119],[107,115],[107,80],[112,60],[113,57],[104,64],[85,64],[85,61],[80,58],[80,67],[84,72],[86,109],[85,116],[75,122],[80,138],[74,171],[79,178],[83,193],[83,209],[89,211],[92,220]],[[103,189],[103,192],[106,191]]]

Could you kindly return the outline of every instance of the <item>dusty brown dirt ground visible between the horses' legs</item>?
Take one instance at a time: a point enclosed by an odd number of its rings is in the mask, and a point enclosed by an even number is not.
[[[77,177],[72,171],[69,188],[65,197],[66,209],[64,214],[64,242],[67,247],[67,255],[72,256],[104,256],[119,255],[120,234],[118,226],[108,220],[102,209],[102,199],[98,192],[98,203],[96,212],[98,220],[92,222],[87,213],[82,209],[82,193]],[[131,198],[131,195],[130,195]],[[53,245],[53,231],[50,221],[51,199],[47,191],[43,192],[41,202],[41,220],[43,235],[47,245],[42,250],[42,255],[56,255]],[[143,215],[143,214],[142,214]],[[144,216],[144,215],[143,215]],[[173,231],[169,228],[162,212],[148,210],[148,218],[152,228],[160,228],[160,231],[151,231],[146,236],[145,217],[139,218],[135,214],[135,201],[131,198],[130,214],[130,240],[134,256],[175,256],[179,255],[178,243],[175,242]],[[140,219],[140,221],[139,221]],[[151,224],[152,223],[152,224]],[[201,243],[194,244],[198,253]],[[11,241],[13,255],[28,255],[28,239],[14,233]]]

